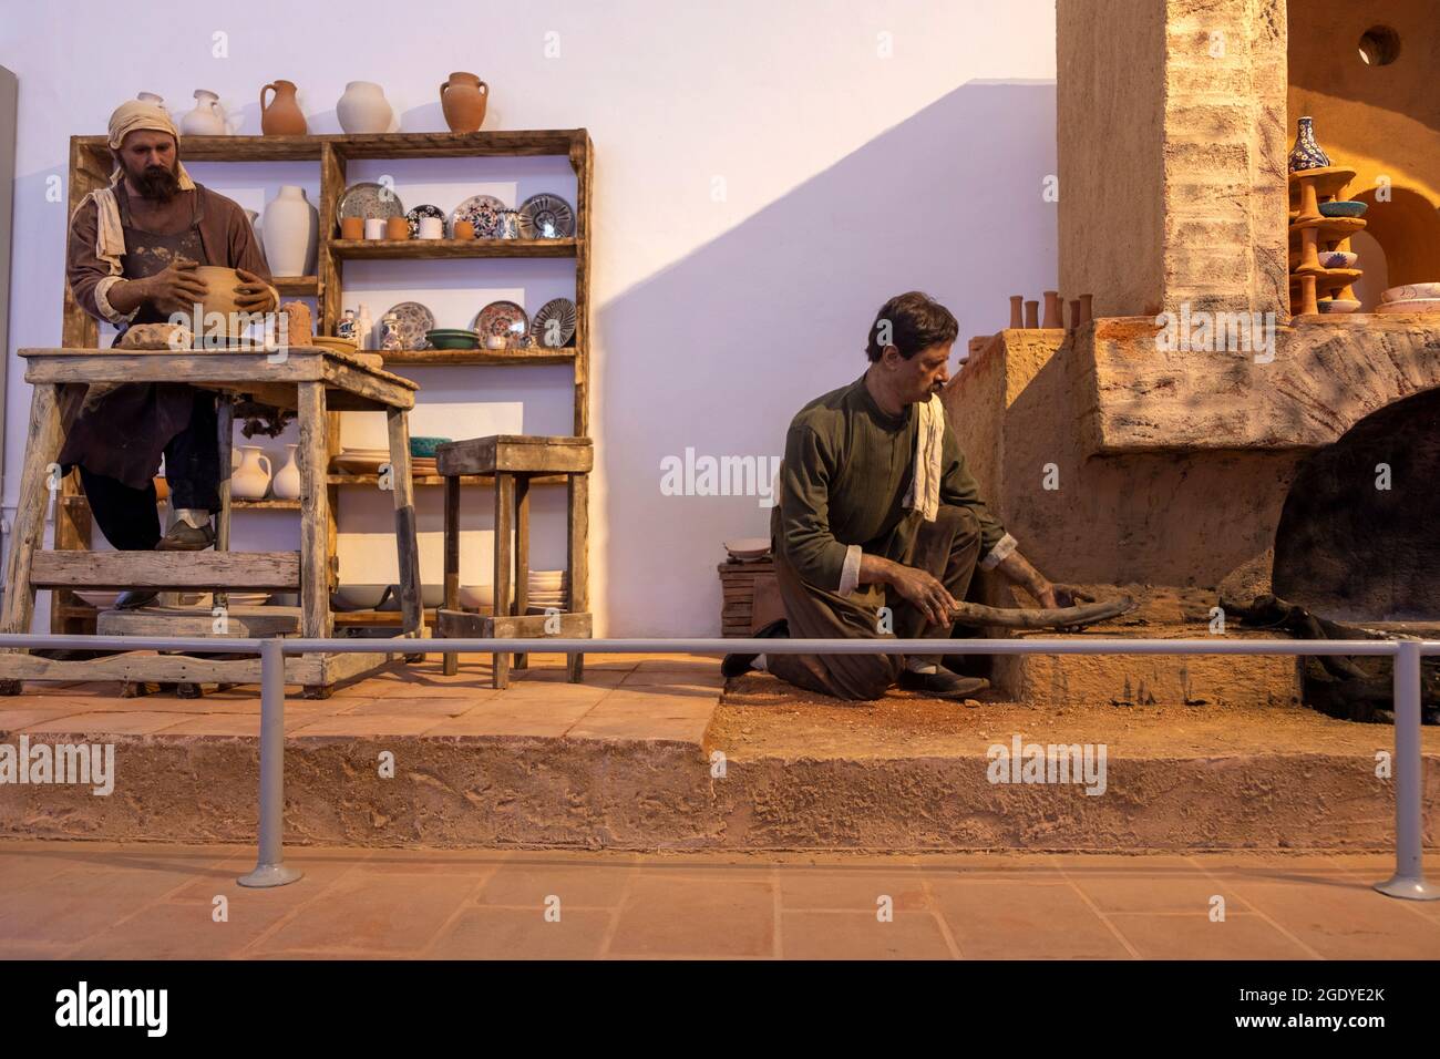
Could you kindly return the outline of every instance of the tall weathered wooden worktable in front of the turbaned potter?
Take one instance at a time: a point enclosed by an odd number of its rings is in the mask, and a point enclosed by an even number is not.
[[[408,412],[415,406],[409,379],[354,357],[318,347],[292,346],[284,353],[204,350],[22,349],[26,382],[35,386],[26,435],[20,496],[6,571],[0,631],[27,633],[40,588],[212,589],[223,604],[226,589],[300,592],[300,633],[330,637],[334,618],[330,594],[336,559],[330,540],[327,473],[328,412],[384,412],[395,493],[395,536],[400,560],[402,637],[423,635],[419,552],[415,540],[415,494],[410,480]],[[62,428],[59,386],[63,383],[187,382],[222,395],[220,499],[215,550],[207,552],[53,552],[43,550],[48,493],[58,488]],[[300,422],[301,543],[300,552],[229,552],[230,401],[246,395],[294,409]],[[141,612],[143,614],[143,612]],[[157,615],[158,617],[158,615]],[[193,617],[193,615],[192,615]],[[209,618],[209,615],[204,615]],[[190,622],[193,625],[193,621]],[[137,630],[140,631],[140,630]],[[187,635],[179,627],[151,635]],[[347,677],[384,666],[383,654],[305,654],[289,660],[287,680],[307,694],[324,696]],[[189,656],[120,654],[91,661],[55,661],[26,653],[0,651],[0,694],[17,694],[22,680],[125,680],[176,683],[256,683],[259,658],[209,660]]]

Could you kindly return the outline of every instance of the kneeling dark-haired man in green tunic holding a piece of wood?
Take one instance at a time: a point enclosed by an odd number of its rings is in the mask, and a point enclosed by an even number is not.
[[[1070,607],[985,507],[939,390],[959,334],[948,308],[912,291],[870,329],[870,367],[799,411],[785,439],[770,536],[785,620],[756,635],[935,638],[933,656],[730,654],[752,669],[840,699],[900,687],[960,697],[988,687],[940,664],[952,612],[975,568],[998,569],[1041,607]],[[891,621],[883,630],[880,608]]]

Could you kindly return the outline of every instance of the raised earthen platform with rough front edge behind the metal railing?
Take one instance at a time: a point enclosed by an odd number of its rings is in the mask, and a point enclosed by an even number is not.
[[[1233,658],[1240,671],[1253,658]],[[625,850],[1385,849],[1392,730],[1299,705],[1099,699],[955,705],[891,693],[842,705],[710,658],[563,658],[494,692],[487,663],[438,660],[287,703],[287,841]],[[518,674],[517,674],[518,676]],[[29,690],[29,689],[27,689]],[[298,693],[298,689],[297,689]],[[0,705],[0,742],[115,745],[115,790],[0,785],[12,837],[253,841],[253,689],[120,699],[35,686]],[[1104,792],[995,784],[991,748],[1099,745]],[[1440,732],[1426,730],[1426,801]],[[393,755],[393,777],[383,765]],[[1428,841],[1436,841],[1431,814]]]

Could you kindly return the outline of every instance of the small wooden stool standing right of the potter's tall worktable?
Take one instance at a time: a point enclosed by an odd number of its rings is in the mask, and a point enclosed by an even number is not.
[[[452,441],[436,451],[445,478],[445,605],[436,615],[436,637],[589,637],[586,545],[589,537],[589,473],[595,447],[589,438],[531,438],[498,434],[491,438]],[[459,609],[459,487],[461,475],[495,475],[495,604],[490,617]],[[564,475],[569,488],[567,553],[569,589],[564,614],[528,614],[530,602],[530,484],[534,478]],[[514,584],[510,568],[514,563]],[[513,589],[513,591],[511,591]],[[577,683],[585,656],[570,653],[569,676]],[[526,667],[516,654],[516,669]],[[445,653],[444,671],[454,676],[459,656]],[[510,654],[494,656],[492,686],[510,686]]]

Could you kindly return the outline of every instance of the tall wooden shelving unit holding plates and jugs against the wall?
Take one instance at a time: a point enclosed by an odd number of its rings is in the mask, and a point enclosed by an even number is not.
[[[415,239],[415,241],[348,241],[340,239],[336,226],[336,206],[347,186],[346,167],[351,160],[397,158],[503,158],[560,156],[570,161],[576,174],[573,239]],[[576,437],[589,434],[589,330],[590,330],[590,210],[593,197],[593,144],[583,128],[569,130],[501,130],[494,133],[393,133],[377,135],[220,135],[183,137],[180,157],[184,161],[255,163],[255,161],[314,161],[320,166],[320,245],[315,275],[276,277],[275,287],[285,298],[314,298],[315,326],[321,334],[334,334],[341,316],[341,292],[346,261],[445,261],[445,259],[523,259],[550,258],[575,261],[575,344],[562,349],[517,350],[405,350],[384,354],[386,366],[507,366],[507,365],[573,365]],[[71,137],[71,210],[96,187],[109,183],[112,160],[102,135]],[[65,288],[62,344],[94,347],[98,327]],[[330,452],[340,447],[340,418],[330,415]],[[55,546],[58,549],[89,548],[91,516],[79,496],[75,475],[65,483],[66,503],[58,507]],[[433,480],[432,480],[433,478]],[[330,542],[334,546],[338,490],[343,486],[373,486],[376,475],[330,474]],[[562,481],[559,478],[554,484]],[[413,478],[415,486],[439,486],[444,478],[425,475]],[[485,475],[474,475],[465,484],[491,484]],[[552,484],[546,481],[544,484]],[[585,490],[569,488],[569,504],[579,500],[588,507]],[[298,500],[238,501],[235,510],[300,510]],[[572,510],[573,513],[573,510]],[[588,511],[586,511],[588,516]],[[333,549],[331,549],[331,553]],[[583,576],[583,573],[582,573]],[[95,611],[71,592],[56,592],[52,607],[52,630],[56,633],[94,631]],[[357,624],[351,614],[341,624]]]

